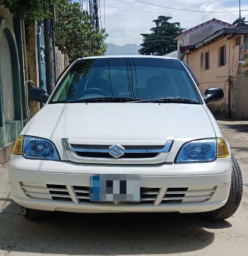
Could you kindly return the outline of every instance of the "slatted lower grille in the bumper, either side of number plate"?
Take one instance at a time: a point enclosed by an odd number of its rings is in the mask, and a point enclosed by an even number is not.
[[[24,193],[37,199],[72,201],[76,204],[109,202],[91,202],[88,186],[51,185],[37,183],[21,183]],[[182,187],[182,188],[140,188],[140,202],[120,202],[119,204],[184,204],[202,202],[211,198],[216,187]]]

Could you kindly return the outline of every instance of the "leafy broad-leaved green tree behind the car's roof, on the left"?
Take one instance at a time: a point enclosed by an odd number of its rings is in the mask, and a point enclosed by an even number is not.
[[[106,51],[105,29],[95,28],[88,12],[80,3],[61,3],[57,6],[55,26],[56,46],[68,54],[69,61],[92,55],[103,55]]]

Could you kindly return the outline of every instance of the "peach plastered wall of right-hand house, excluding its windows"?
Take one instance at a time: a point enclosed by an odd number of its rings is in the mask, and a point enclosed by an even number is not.
[[[209,105],[215,116],[220,117],[228,116],[228,76],[235,77],[238,72],[239,46],[235,46],[236,37],[227,40],[228,36],[188,54],[188,64],[200,83],[201,93],[204,94],[209,87],[220,87],[224,90],[224,99]],[[243,42],[243,36],[241,42]],[[223,44],[226,45],[226,64],[218,67],[218,47]],[[201,55],[206,51],[209,51],[210,55],[210,69],[208,70],[204,70],[204,64],[201,65]]]

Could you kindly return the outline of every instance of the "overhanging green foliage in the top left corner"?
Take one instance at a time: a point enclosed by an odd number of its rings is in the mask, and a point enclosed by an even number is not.
[[[61,0],[50,0],[51,4],[57,4]],[[0,0],[3,5],[15,17],[20,17],[26,23],[35,20],[42,22],[51,16],[50,6],[47,0]]]

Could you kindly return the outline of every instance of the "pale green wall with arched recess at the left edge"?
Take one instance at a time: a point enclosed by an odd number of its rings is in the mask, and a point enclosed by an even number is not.
[[[0,6],[0,162],[8,160],[11,144],[23,128],[23,94],[13,24],[13,17]]]

